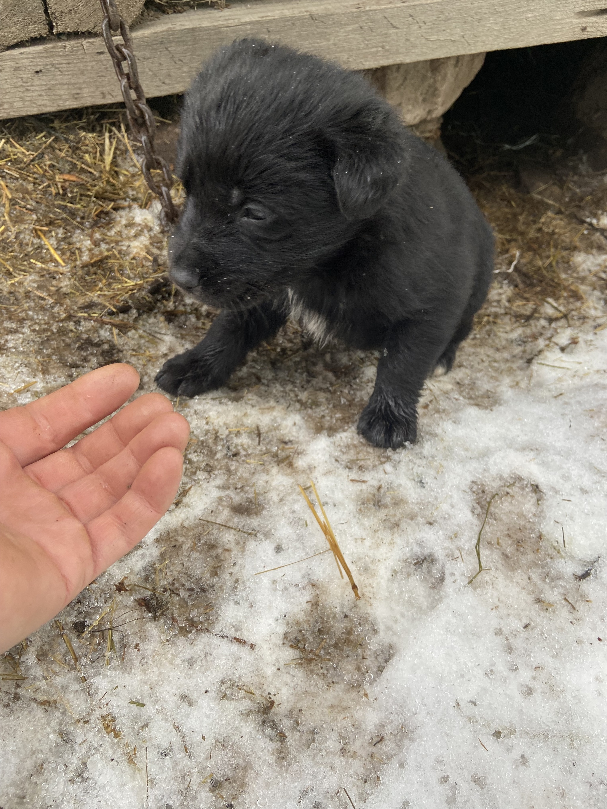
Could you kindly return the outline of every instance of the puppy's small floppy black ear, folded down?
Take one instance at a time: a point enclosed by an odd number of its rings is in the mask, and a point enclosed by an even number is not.
[[[354,116],[334,140],[333,182],[346,219],[371,218],[398,184],[403,147],[391,117]]]

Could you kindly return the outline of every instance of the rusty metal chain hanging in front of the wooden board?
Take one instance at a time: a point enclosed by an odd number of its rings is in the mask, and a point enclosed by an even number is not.
[[[142,174],[152,193],[159,197],[162,205],[160,220],[163,227],[171,227],[179,217],[179,212],[171,198],[173,184],[172,172],[166,160],[156,155],[154,138],[156,122],[151,109],[146,104],[146,95],[139,81],[137,61],[133,53],[133,40],[131,40],[129,26],[118,13],[116,0],[100,0],[104,21],[101,24],[105,47],[108,49],[120,88],[122,98],[125,100],[126,116],[134,138],[141,143],[143,159],[141,163]],[[122,42],[115,43],[113,36],[121,36]],[[126,70],[125,70],[126,62]],[[131,95],[134,92],[135,97]],[[151,172],[159,169],[162,179],[156,182]]]

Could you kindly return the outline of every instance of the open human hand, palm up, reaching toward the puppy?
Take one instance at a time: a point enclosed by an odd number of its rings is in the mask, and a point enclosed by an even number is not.
[[[185,418],[132,366],[0,413],[0,651],[57,615],[150,531],[179,488]]]

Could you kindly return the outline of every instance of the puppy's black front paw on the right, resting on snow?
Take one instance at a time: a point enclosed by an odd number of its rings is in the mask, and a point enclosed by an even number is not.
[[[418,432],[417,409],[414,404],[374,393],[360,414],[358,430],[375,447],[396,450],[405,441],[415,441]]]

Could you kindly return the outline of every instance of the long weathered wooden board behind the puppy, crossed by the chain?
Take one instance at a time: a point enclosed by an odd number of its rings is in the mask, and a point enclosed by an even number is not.
[[[261,36],[352,69],[607,36],[601,0],[231,0],[136,28],[148,97],[184,91],[219,45]],[[120,100],[98,38],[0,53],[0,118]]]

